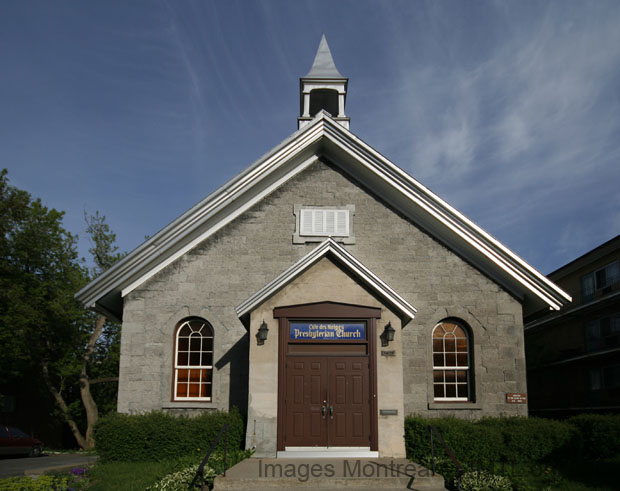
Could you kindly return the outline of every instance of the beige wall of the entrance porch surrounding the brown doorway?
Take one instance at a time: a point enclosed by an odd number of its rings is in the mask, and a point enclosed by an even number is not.
[[[275,307],[321,302],[326,298],[333,302],[381,308],[376,329],[378,345],[381,344],[379,335],[388,323],[400,327],[400,320],[394,313],[329,259],[323,258],[252,312],[250,332],[256,332],[263,320],[273,319]],[[272,320],[272,325],[277,324]],[[379,416],[379,449],[385,456],[400,458],[405,457],[401,329],[396,330],[390,349],[396,352],[396,356],[377,357],[377,378],[381,381],[377,386],[377,399],[381,408],[396,409],[398,413]],[[278,332],[274,328],[264,345],[250,343],[251,395],[246,442],[248,448],[256,447],[257,457],[274,457],[276,454],[277,380]]]

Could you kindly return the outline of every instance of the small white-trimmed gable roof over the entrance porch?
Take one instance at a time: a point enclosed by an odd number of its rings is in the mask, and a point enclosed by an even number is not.
[[[252,310],[324,257],[329,257],[343,266],[363,283],[364,286],[381,298],[386,305],[391,306],[394,311],[398,313],[403,326],[415,317],[417,309],[413,305],[396,293],[387,283],[370,271],[358,261],[353,254],[344,249],[331,237],[323,241],[286,271],[278,275],[239,305],[235,309],[237,315],[244,320],[247,325],[247,317]]]

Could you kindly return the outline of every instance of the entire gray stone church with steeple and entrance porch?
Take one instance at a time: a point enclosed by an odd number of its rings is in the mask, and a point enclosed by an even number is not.
[[[347,85],[323,38],[298,131],[78,293],[122,319],[119,411],[236,405],[257,456],[527,414],[523,313],[570,298],[349,132]]]

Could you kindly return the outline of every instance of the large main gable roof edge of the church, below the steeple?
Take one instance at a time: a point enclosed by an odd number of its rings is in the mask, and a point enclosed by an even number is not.
[[[90,282],[76,298],[120,319],[122,297],[317,160],[325,158],[523,302],[559,309],[570,296],[379,152],[319,112],[245,171]]]

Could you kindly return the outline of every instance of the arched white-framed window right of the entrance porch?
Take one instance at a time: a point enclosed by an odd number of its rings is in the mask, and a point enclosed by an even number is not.
[[[443,321],[433,329],[433,393],[436,401],[472,400],[467,329]]]

